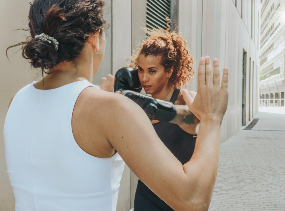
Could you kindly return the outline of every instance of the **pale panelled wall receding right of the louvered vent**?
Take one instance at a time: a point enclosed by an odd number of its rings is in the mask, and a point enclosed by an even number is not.
[[[219,59],[221,72],[224,66],[229,68],[230,95],[221,127],[222,142],[242,128],[243,50],[247,52],[245,124],[258,112],[259,10],[260,2],[256,0],[238,0],[237,6],[235,1],[227,0],[179,1],[179,31],[188,40],[191,54],[197,61],[196,66],[201,56],[208,55],[211,59]],[[196,81],[192,81],[189,87],[196,91]]]

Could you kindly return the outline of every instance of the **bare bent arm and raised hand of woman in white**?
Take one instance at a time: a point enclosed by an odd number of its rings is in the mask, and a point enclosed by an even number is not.
[[[218,60],[214,61],[214,78],[211,73],[209,57],[206,61],[201,59],[195,100],[182,90],[187,105],[201,120],[194,154],[183,166],[159,140],[147,116],[133,101],[117,95],[113,102],[117,106],[106,118],[107,140],[139,179],[175,210],[207,210],[211,201],[220,125],[227,108],[228,70],[224,68],[221,86]]]

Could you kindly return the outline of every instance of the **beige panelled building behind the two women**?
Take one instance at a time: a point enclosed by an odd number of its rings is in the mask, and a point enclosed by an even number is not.
[[[188,41],[188,48],[198,67],[201,56],[218,58],[221,72],[229,68],[229,103],[221,126],[221,141],[249,124],[258,112],[259,31],[261,7],[259,0],[106,0],[108,4],[106,50],[103,62],[93,77],[99,85],[101,78],[114,74],[126,65],[133,50],[146,34],[144,26],[160,26],[165,14],[170,15]],[[265,1],[265,0],[263,0]],[[3,128],[7,107],[13,95],[23,86],[38,80],[40,74],[31,69],[17,49],[8,46],[25,40],[30,0],[19,2],[4,0],[0,17],[0,124]],[[13,18],[10,18],[13,17]],[[187,89],[197,90],[197,73]],[[15,210],[13,191],[7,175],[3,130],[0,130],[0,210]],[[121,181],[117,210],[133,208],[137,177],[126,166]]]

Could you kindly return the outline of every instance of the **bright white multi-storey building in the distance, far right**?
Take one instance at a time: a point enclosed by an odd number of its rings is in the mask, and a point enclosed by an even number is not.
[[[261,0],[260,104],[284,106],[285,2]]]

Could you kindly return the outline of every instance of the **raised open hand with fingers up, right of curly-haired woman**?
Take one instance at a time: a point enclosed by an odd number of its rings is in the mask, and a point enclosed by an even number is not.
[[[188,91],[182,89],[183,98],[190,110],[200,119],[218,120],[221,124],[227,110],[228,68],[224,67],[222,81],[220,83],[219,60],[213,60],[214,71],[212,74],[211,59],[202,57],[198,68],[198,91],[193,99]]]

